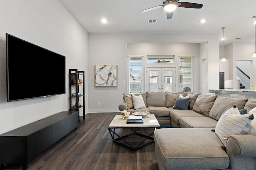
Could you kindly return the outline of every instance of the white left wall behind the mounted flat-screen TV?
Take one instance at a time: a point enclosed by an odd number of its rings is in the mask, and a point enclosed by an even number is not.
[[[66,94],[6,102],[6,33],[66,56]],[[77,68],[87,73],[87,47],[87,32],[59,1],[0,0],[0,134],[68,111],[68,69]],[[56,84],[53,85],[58,86],[58,74],[54,76]],[[24,76],[24,82],[20,83],[31,81],[36,82],[36,78],[28,81]],[[88,98],[86,106],[87,103]]]

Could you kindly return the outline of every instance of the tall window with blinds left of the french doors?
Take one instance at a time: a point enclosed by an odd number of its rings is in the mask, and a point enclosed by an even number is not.
[[[129,93],[142,93],[142,57],[129,58]]]

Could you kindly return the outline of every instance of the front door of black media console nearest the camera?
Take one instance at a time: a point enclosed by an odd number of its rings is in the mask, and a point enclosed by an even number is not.
[[[28,135],[28,162],[52,146],[52,125]]]

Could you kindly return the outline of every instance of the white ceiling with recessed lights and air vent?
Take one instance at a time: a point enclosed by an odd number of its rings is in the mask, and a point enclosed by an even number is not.
[[[219,33],[225,45],[254,40],[256,0],[180,0],[203,4],[201,9],[178,7],[173,18],[166,19],[162,0],[59,0],[88,33]],[[106,18],[108,23],[102,24]],[[200,23],[205,19],[205,23]],[[157,20],[148,24],[148,20]],[[236,40],[235,38],[242,38]],[[222,41],[220,41],[222,44]]]

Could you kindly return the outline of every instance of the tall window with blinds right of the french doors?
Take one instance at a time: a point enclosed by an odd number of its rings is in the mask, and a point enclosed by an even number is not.
[[[180,56],[180,92],[183,92],[185,87],[192,87],[192,56]]]

